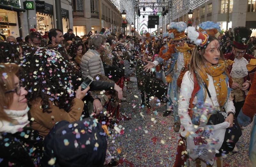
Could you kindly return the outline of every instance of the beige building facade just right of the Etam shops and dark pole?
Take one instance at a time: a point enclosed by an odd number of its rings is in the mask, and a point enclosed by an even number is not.
[[[121,33],[123,19],[120,11],[110,0],[72,0],[72,5],[75,35],[83,36],[90,31],[99,33],[103,27],[116,35]]]

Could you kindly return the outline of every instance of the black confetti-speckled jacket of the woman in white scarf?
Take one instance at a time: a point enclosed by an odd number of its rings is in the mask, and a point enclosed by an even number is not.
[[[43,154],[43,139],[31,127],[22,132],[0,133],[0,166],[30,167],[40,166]]]

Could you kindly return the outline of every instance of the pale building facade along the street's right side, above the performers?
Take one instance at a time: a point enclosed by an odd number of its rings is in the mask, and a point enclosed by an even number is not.
[[[175,4],[177,1],[173,1]],[[190,1],[191,2],[191,1]],[[191,5],[191,4],[190,4]],[[175,5],[173,5],[175,7]],[[252,29],[252,35],[256,35],[256,9],[255,0],[230,0],[229,3],[229,17],[228,28],[235,28],[244,26]],[[191,19],[194,26],[198,26],[204,21],[219,22],[220,28],[226,30],[228,0],[205,0],[203,3],[194,5],[194,8],[186,8],[187,11],[180,15],[172,13],[172,21],[186,21],[188,22],[188,11],[193,12]],[[177,9],[178,10],[178,9]],[[173,9],[172,12],[175,12]],[[170,18],[171,20],[171,18]],[[165,27],[168,23],[165,22]]]

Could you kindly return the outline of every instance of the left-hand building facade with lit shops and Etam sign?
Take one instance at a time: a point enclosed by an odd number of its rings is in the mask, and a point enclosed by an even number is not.
[[[5,36],[23,37],[29,34],[29,29],[35,28],[42,35],[51,28],[57,28],[55,0],[33,1],[35,9],[25,10],[26,0],[0,0],[0,32]],[[61,1],[63,32],[73,27],[71,0]],[[40,3],[44,3],[40,8]]]

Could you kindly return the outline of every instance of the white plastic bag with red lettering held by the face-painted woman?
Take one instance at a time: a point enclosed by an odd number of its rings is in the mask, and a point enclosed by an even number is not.
[[[210,163],[214,162],[215,154],[218,153],[223,141],[228,122],[217,125],[204,125],[192,130],[187,136],[187,151],[191,159],[197,158]],[[182,134],[183,133],[183,134]],[[182,132],[181,135],[184,136]]]

